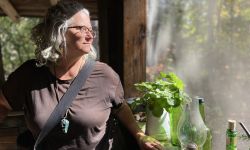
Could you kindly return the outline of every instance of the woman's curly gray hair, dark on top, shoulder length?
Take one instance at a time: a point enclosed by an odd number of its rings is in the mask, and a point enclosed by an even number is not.
[[[32,29],[32,40],[37,46],[35,56],[38,66],[45,65],[48,61],[56,62],[63,52],[67,53],[65,33],[70,18],[79,11],[89,16],[89,11],[81,3],[75,0],[61,0],[49,8],[42,22]],[[96,59],[93,46],[86,57]]]

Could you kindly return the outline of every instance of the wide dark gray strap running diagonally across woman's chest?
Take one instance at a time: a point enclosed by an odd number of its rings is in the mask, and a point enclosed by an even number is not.
[[[83,69],[79,72],[76,78],[72,81],[69,89],[63,95],[60,102],[56,105],[54,111],[50,114],[49,119],[42,128],[34,145],[34,150],[37,149],[39,143],[47,136],[47,134],[60,122],[71,102],[74,100],[81,87],[85,83],[88,76],[91,74],[95,65],[95,61],[87,59]]]

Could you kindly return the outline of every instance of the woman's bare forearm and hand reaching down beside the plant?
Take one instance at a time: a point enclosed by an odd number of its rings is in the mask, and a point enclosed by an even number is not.
[[[124,102],[120,108],[117,110],[116,116],[119,120],[124,124],[125,127],[132,133],[132,135],[136,138],[138,144],[141,149],[145,150],[161,150],[161,144],[144,134],[144,132],[137,125],[133,113],[126,102]]]

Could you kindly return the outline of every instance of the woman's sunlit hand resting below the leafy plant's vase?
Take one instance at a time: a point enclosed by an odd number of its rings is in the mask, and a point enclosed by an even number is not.
[[[163,150],[161,143],[153,137],[144,133],[138,133],[137,135],[137,141],[141,150]]]

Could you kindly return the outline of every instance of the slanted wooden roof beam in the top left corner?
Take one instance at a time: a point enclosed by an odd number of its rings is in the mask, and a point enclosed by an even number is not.
[[[0,0],[0,7],[13,21],[17,22],[19,20],[20,16],[9,0]]]

